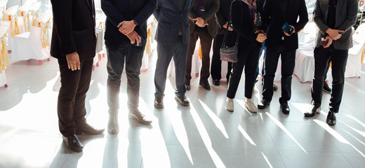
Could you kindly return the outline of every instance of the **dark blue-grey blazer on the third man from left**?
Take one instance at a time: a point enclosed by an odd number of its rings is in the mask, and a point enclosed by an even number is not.
[[[183,11],[179,10],[176,0],[157,0],[154,17],[157,19],[157,32],[155,39],[164,45],[173,45],[178,41],[179,31],[182,31],[183,43],[190,42],[189,12],[192,0],[186,0]]]

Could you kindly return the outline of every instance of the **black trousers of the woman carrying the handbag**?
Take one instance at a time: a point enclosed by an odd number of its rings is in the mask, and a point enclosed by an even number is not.
[[[255,83],[255,71],[258,65],[258,53],[260,48],[257,43],[251,43],[247,46],[238,45],[238,54],[236,63],[232,64],[232,73],[228,85],[227,97],[234,99],[239,80],[241,80],[242,71],[245,73],[244,96],[248,99],[252,97],[253,85]],[[244,69],[245,68],[245,69]]]

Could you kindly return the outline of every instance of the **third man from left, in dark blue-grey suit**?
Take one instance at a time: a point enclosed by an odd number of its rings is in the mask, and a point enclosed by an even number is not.
[[[164,91],[166,86],[166,73],[168,64],[175,62],[175,100],[182,106],[190,103],[185,97],[185,66],[187,50],[190,41],[189,12],[192,0],[157,0],[157,9],[154,17],[157,25],[157,63],[154,72],[154,106],[164,108]]]

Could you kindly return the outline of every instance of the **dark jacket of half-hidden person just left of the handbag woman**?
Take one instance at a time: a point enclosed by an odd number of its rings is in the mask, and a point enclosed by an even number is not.
[[[217,12],[217,21],[219,23],[218,34],[225,34],[225,25],[230,17],[230,7],[233,0],[220,0],[219,10]]]

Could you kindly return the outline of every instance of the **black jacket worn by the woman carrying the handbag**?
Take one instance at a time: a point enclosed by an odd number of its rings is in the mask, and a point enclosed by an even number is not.
[[[257,8],[258,13],[262,13],[260,8]],[[251,18],[248,5],[241,0],[232,1],[232,26],[234,31],[239,35],[239,45],[248,48],[251,43],[255,43],[261,47],[261,43],[256,41],[258,36],[253,27],[253,18]],[[260,27],[263,29],[263,27]]]

